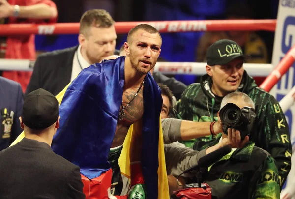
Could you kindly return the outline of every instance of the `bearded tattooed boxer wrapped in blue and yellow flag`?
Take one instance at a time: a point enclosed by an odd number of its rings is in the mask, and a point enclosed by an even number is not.
[[[164,154],[160,129],[162,97],[149,73],[160,55],[161,45],[157,29],[140,24],[127,36],[126,57],[89,66],[57,96],[61,102],[60,127],[52,148],[81,168],[87,199],[115,199],[110,193],[109,152],[111,148],[116,153],[117,160],[113,161],[118,162],[131,125],[127,149],[131,172],[128,197],[169,198],[167,174],[158,174],[161,168],[165,171],[165,160],[159,158]]]

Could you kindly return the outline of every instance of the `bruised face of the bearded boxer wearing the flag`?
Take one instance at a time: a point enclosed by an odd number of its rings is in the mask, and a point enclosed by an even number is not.
[[[147,74],[154,68],[161,52],[162,40],[158,33],[139,29],[133,33],[129,47],[131,65],[140,74]]]

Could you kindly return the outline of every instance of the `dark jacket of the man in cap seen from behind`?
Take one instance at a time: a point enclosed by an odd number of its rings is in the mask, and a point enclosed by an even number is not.
[[[23,138],[0,152],[0,199],[85,199],[80,168]]]

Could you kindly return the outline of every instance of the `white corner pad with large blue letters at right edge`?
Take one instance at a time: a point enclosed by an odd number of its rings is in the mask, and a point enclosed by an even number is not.
[[[275,30],[274,47],[272,54],[272,65],[275,67],[285,56],[289,49],[295,44],[295,0],[280,0],[277,25]],[[271,94],[280,101],[295,85],[295,64],[281,78],[277,85],[271,90]],[[291,141],[295,138],[295,106],[285,112],[289,124]],[[291,186],[291,180],[295,177],[295,163],[288,175],[287,186]],[[294,187],[293,187],[294,188]]]

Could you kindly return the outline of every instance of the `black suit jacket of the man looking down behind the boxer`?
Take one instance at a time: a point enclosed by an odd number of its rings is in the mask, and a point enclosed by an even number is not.
[[[25,95],[43,88],[59,94],[71,81],[73,58],[78,46],[41,54],[36,59]]]

